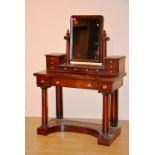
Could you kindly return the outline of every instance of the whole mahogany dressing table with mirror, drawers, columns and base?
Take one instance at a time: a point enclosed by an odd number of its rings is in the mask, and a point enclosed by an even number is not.
[[[120,134],[118,89],[123,85],[125,56],[107,56],[104,18],[99,15],[71,16],[66,54],[46,54],[46,70],[34,73],[42,91],[42,121],[37,134],[78,132],[97,137],[109,146]],[[47,89],[56,88],[56,118],[48,120]],[[103,96],[102,124],[63,118],[63,87],[96,90]]]

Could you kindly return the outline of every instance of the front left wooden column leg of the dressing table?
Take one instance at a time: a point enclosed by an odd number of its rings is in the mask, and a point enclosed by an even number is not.
[[[47,88],[42,87],[42,127],[48,127],[48,103],[47,103]]]

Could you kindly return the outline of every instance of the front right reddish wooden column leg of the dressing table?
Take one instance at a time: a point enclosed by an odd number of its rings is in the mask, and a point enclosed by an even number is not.
[[[103,94],[103,116],[102,116],[102,132],[107,134],[109,132],[109,94]]]

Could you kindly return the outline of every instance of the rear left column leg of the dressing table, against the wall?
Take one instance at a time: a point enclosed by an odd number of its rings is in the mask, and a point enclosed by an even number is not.
[[[56,118],[63,119],[62,87],[56,86]]]

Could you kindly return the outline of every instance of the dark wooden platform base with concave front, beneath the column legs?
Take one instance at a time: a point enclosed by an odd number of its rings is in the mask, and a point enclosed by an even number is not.
[[[48,135],[54,132],[77,132],[92,135],[98,138],[98,144],[110,146],[121,132],[120,127],[110,127],[109,133],[102,133],[102,125],[79,121],[52,119],[48,126],[37,128],[37,134]]]

